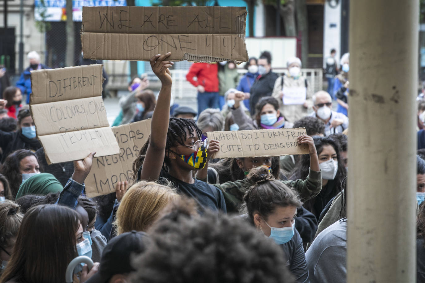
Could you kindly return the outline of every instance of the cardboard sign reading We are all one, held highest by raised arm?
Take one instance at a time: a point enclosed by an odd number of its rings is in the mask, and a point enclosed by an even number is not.
[[[83,7],[85,59],[248,61],[245,7]]]

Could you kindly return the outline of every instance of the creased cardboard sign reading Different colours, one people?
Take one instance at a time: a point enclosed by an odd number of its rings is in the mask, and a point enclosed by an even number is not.
[[[31,114],[48,164],[119,152],[102,82],[101,64],[31,71]]]

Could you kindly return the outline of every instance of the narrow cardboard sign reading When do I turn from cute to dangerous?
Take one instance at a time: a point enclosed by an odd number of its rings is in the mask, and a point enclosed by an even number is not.
[[[305,128],[207,132],[210,140],[220,141],[214,158],[308,154],[309,147],[297,143],[303,134]]]

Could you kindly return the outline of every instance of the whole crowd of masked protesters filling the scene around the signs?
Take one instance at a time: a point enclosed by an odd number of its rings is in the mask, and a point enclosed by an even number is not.
[[[152,119],[133,161],[133,182],[93,198],[85,179],[96,152],[48,165],[22,105],[28,90],[5,88],[0,283],[65,282],[67,272],[75,283],[346,282],[348,118],[339,110],[348,110],[348,58],[340,72],[336,60],[326,61],[333,86],[315,93],[296,57],[278,76],[264,52],[249,59],[239,81],[233,62],[195,63],[187,74],[202,101],[195,111],[172,99],[169,56],[150,59],[161,81],[157,95],[146,77],[135,77],[119,101],[114,125]],[[301,90],[298,104],[285,97],[292,88]],[[423,128],[425,102],[419,112]],[[306,134],[297,143],[309,154],[214,159],[220,142],[207,138],[223,130],[301,127]],[[418,255],[425,254],[424,157],[419,150]],[[83,255],[91,268],[68,268]],[[417,266],[421,282],[423,256]]]

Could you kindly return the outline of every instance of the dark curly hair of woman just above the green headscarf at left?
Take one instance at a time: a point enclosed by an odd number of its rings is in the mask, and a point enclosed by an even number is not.
[[[1,174],[3,174],[6,179],[9,181],[9,185],[12,192],[11,200],[14,200],[16,194],[18,193],[19,186],[22,183],[22,174],[20,174],[20,162],[25,157],[34,156],[37,159],[37,156],[34,152],[27,149],[19,149],[17,151],[12,152],[6,157],[2,167]],[[37,159],[38,161],[38,159]],[[39,163],[40,166],[40,163]],[[40,166],[40,172],[42,172],[42,168]]]

